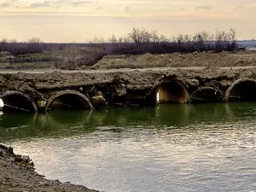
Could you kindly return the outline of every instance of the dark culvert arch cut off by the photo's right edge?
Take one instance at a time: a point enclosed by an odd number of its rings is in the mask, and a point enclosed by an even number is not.
[[[237,79],[226,90],[224,101],[256,101],[256,81],[254,79]]]

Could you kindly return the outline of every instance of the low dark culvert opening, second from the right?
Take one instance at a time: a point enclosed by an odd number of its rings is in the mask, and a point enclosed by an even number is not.
[[[214,89],[212,87],[204,87],[192,94],[189,99],[190,103],[200,103],[200,102],[223,102],[223,94],[220,90]]]

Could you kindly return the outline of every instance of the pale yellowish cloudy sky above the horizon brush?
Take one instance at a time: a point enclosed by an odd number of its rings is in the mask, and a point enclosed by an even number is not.
[[[256,38],[256,0],[0,0],[0,38],[86,42],[132,27],[167,37],[232,27]]]

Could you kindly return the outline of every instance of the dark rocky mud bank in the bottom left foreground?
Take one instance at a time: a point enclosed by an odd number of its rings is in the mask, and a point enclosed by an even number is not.
[[[84,191],[97,192],[82,185],[47,180],[35,172],[32,160],[28,156],[14,154],[13,148],[0,144],[0,191],[14,192],[51,192]]]

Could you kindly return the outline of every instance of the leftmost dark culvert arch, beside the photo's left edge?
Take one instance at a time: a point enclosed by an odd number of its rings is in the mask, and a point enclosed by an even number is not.
[[[0,99],[4,103],[4,112],[38,112],[36,103],[23,92],[8,90],[0,96]]]

